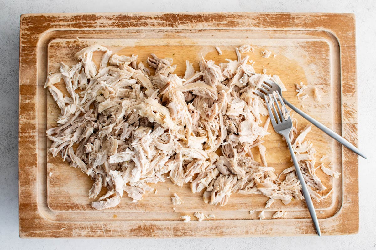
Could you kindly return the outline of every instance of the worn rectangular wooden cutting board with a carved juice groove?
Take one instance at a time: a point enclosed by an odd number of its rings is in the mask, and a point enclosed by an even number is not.
[[[165,183],[151,184],[158,193],[147,193],[134,204],[124,197],[115,208],[97,211],[88,198],[92,185],[79,169],[48,153],[45,130],[55,126],[59,110],[43,88],[49,72],[58,72],[60,61],[76,63],[80,49],[100,44],[119,55],[150,53],[171,57],[183,75],[185,60],[196,69],[201,54],[215,63],[235,60],[235,47],[250,44],[245,53],[255,61],[256,72],[279,75],[287,87],[284,97],[353,144],[357,144],[355,68],[355,17],[351,14],[288,13],[128,13],[32,14],[21,16],[19,183],[20,236],[28,237],[225,237],[315,234],[304,201],[288,205],[276,201],[265,209],[262,195],[230,196],[223,207],[207,205],[201,194]],[[219,46],[223,55],[218,55]],[[262,58],[261,51],[272,51]],[[245,55],[243,54],[243,56]],[[274,56],[275,55],[275,56]],[[94,54],[99,62],[100,53]],[[308,85],[308,98],[296,97],[294,83]],[[56,85],[63,89],[61,84]],[[315,102],[313,89],[321,94]],[[297,114],[298,130],[308,122]],[[273,128],[265,136],[267,161],[277,173],[290,167],[290,154]],[[307,139],[314,143],[317,160],[341,172],[331,178],[317,169],[327,187],[314,202],[323,235],[358,232],[358,158],[332,138],[312,127]],[[257,154],[256,154],[256,157]],[[317,164],[318,165],[318,164]],[[52,175],[50,176],[50,173]],[[168,189],[170,188],[170,190]],[[105,190],[102,190],[103,192]],[[173,206],[177,193],[184,204]],[[176,211],[173,211],[173,208]],[[249,211],[255,213],[250,214]],[[259,220],[264,210],[266,218]],[[287,211],[284,219],[272,219]],[[199,222],[195,212],[214,214]],[[182,215],[192,221],[183,223]]]

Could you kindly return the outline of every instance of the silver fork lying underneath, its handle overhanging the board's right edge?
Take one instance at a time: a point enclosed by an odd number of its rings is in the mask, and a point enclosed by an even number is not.
[[[251,73],[253,75],[256,74],[255,72],[252,72],[250,70],[247,70],[247,72]],[[268,85],[265,84],[264,82],[267,83]],[[279,87],[278,84],[276,84],[275,82],[270,81],[270,80],[265,80],[264,82],[261,84],[261,87],[259,88],[259,90],[255,90],[256,94],[258,94],[261,97],[264,97],[264,93],[268,94],[268,93],[273,93],[273,91],[277,91],[279,93],[279,95],[282,97],[282,89]],[[261,91],[264,92],[264,93],[262,93]],[[365,155],[360,150],[358,150],[358,148],[356,148],[354,145],[352,145],[349,141],[347,141],[346,139],[344,139],[342,136],[338,135],[337,133],[335,133],[331,129],[325,127],[322,123],[320,123],[319,121],[317,121],[314,118],[310,117],[305,112],[301,111],[296,106],[292,105],[290,102],[288,102],[283,97],[282,97],[281,100],[283,100],[286,103],[287,106],[289,106],[291,109],[293,109],[299,115],[301,115],[302,117],[304,117],[306,120],[308,120],[309,122],[311,122],[312,124],[314,124],[316,127],[318,127],[319,129],[321,129],[322,131],[324,131],[327,135],[331,136],[333,139],[335,139],[336,141],[338,141],[340,144],[344,145],[346,148],[352,150],[353,152],[355,152],[359,156],[363,157],[364,159],[367,159],[367,157],[365,157]]]

